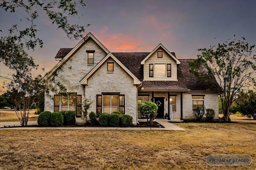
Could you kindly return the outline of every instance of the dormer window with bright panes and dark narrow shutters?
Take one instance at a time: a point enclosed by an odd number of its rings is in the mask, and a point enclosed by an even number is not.
[[[171,64],[149,64],[149,77],[171,77]]]

